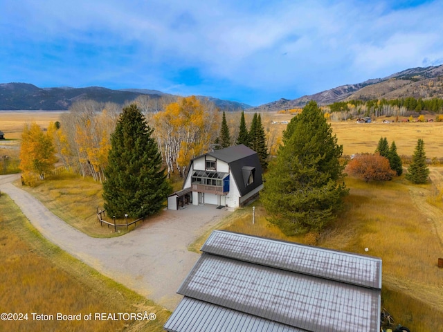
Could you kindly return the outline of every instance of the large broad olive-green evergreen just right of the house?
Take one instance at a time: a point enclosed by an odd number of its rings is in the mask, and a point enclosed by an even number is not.
[[[321,230],[334,219],[348,192],[344,183],[338,184],[344,176],[342,153],[316,102],[309,102],[291,120],[266,176],[261,196],[270,221],[295,234]]]

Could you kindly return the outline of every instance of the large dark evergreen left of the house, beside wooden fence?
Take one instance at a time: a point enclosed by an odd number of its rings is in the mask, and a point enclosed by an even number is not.
[[[152,131],[136,104],[123,109],[111,135],[103,199],[108,215],[158,212],[170,193]]]

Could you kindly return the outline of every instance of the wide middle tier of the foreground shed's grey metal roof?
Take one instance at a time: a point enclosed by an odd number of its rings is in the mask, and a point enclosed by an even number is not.
[[[379,290],[206,253],[177,293],[307,331],[379,329]]]

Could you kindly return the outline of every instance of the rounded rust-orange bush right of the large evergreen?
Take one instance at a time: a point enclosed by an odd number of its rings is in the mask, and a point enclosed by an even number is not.
[[[369,181],[389,181],[395,174],[390,169],[388,158],[379,154],[363,154],[347,164],[347,172]]]

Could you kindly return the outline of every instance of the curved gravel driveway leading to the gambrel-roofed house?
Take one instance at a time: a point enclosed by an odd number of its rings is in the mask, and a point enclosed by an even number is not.
[[[188,205],[179,211],[167,210],[122,237],[96,239],[71,227],[10,183],[18,177],[0,176],[0,190],[15,201],[46,239],[171,311],[182,298],[177,289],[199,258],[187,250],[188,245],[230,213],[215,205]]]

